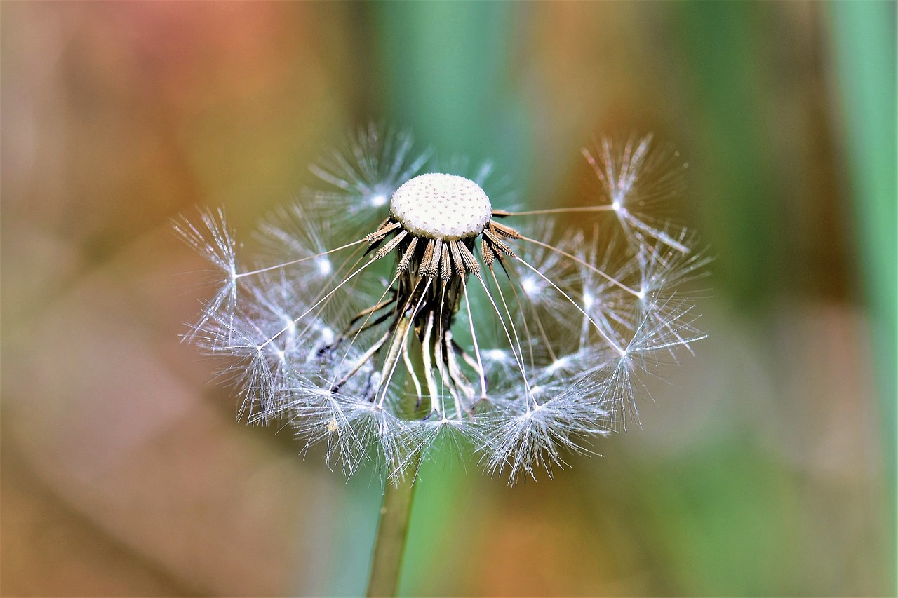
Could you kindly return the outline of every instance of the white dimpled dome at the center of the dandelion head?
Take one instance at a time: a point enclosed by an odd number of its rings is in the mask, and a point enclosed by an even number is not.
[[[482,233],[492,211],[480,185],[439,172],[407,180],[390,200],[390,215],[409,233],[443,241]]]

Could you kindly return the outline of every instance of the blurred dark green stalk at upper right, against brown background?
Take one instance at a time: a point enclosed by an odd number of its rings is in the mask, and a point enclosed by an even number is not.
[[[775,4],[682,2],[665,8],[677,23],[700,110],[702,237],[718,254],[715,277],[744,311],[762,312],[783,277],[788,238],[765,134],[768,88],[763,17]]]

